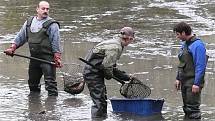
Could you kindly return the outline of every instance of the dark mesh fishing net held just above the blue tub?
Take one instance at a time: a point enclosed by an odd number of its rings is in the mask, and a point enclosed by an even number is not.
[[[122,84],[120,94],[126,98],[146,98],[151,94],[151,89],[137,78],[133,78]]]

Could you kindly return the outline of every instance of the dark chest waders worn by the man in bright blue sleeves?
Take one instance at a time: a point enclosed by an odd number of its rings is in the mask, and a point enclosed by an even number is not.
[[[188,46],[195,42],[185,44],[182,53],[179,54],[178,74],[181,81],[181,92],[183,99],[183,111],[185,112],[185,118],[199,119],[201,118],[200,103],[201,103],[201,89],[199,93],[192,93],[192,85],[195,80],[195,67],[192,54],[188,50]],[[204,77],[201,80],[200,88],[203,87]]]

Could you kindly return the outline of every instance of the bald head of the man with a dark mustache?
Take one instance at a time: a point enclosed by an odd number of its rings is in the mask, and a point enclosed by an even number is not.
[[[37,7],[37,16],[40,19],[44,19],[49,15],[49,4],[47,2],[42,2]]]

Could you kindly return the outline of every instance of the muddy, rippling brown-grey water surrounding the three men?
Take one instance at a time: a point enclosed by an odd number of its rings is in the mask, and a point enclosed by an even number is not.
[[[24,23],[35,14],[37,0],[0,1],[0,51],[6,49]],[[200,0],[50,0],[51,17],[61,23],[61,41],[65,63],[83,64],[78,57],[100,41],[117,38],[124,26],[132,26],[136,42],[124,51],[119,68],[134,74],[150,86],[150,98],[165,99],[162,114],[144,117],[112,112],[108,100],[105,120],[183,120],[180,92],[174,90],[177,52],[180,42],[172,33],[174,24],[186,21],[206,43],[210,56],[206,84],[202,94],[202,120],[214,120],[215,114],[215,42],[214,1]],[[17,53],[29,55],[27,46]],[[47,97],[44,81],[42,93],[28,96],[27,70],[29,60],[0,54],[0,120],[91,120],[92,104],[87,87],[73,96],[63,89],[58,70],[57,98]],[[120,85],[106,81],[108,98],[121,97]]]

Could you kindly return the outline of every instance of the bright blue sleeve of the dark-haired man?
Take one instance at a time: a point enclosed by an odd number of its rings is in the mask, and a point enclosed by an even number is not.
[[[195,66],[194,85],[200,85],[206,69],[206,49],[203,43],[192,46],[193,61]]]

